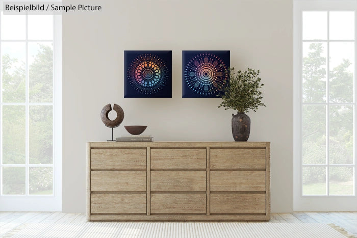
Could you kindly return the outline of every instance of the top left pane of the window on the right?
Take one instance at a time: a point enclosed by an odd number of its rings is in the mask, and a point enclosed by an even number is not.
[[[302,39],[327,39],[327,12],[302,12]]]

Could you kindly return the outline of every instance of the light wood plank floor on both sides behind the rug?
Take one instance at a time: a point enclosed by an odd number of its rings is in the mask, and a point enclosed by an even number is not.
[[[0,236],[23,223],[84,223],[81,213],[0,212]],[[271,223],[333,223],[357,236],[357,213],[273,213]]]

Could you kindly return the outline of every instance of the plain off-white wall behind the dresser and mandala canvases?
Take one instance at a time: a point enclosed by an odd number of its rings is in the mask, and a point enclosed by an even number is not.
[[[65,4],[83,1],[64,1]],[[94,1],[88,1],[94,4]],[[85,142],[111,136],[99,114],[119,104],[122,125],[157,141],[232,141],[219,98],[182,98],[182,50],[231,50],[231,66],[260,69],[264,103],[249,140],[271,141],[271,209],[293,209],[293,1],[98,1],[63,15],[63,211],[85,211]],[[172,50],[172,98],[123,98],[123,50]],[[114,136],[125,134],[123,126]]]

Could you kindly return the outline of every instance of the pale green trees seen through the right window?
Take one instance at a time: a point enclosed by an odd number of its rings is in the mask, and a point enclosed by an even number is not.
[[[322,43],[311,43],[310,52],[303,58],[302,100],[304,103],[353,102],[353,73],[349,60],[329,72],[329,89],[326,95],[326,57]],[[303,105],[302,108],[302,161],[303,164],[326,163],[326,106]],[[329,164],[353,163],[353,108],[349,105],[329,107]],[[330,181],[348,181],[350,168],[329,170]],[[325,180],[321,167],[309,167],[303,172],[303,183]]]

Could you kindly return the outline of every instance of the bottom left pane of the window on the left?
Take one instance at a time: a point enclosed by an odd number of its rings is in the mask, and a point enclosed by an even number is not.
[[[3,194],[25,194],[25,168],[3,167]]]

